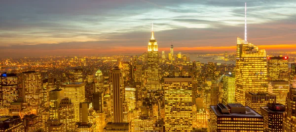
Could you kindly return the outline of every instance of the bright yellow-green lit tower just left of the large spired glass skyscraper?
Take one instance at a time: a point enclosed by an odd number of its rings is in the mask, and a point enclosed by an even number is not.
[[[222,103],[224,105],[235,103],[235,78],[231,75],[223,76],[223,85],[222,85]]]

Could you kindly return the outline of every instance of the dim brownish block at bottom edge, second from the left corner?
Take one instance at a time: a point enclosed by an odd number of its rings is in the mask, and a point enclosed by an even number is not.
[[[25,132],[38,132],[41,129],[41,117],[35,114],[25,115]]]

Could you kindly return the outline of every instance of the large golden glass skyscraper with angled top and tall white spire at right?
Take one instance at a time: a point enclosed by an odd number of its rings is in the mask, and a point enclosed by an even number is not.
[[[245,105],[245,93],[267,91],[267,60],[265,50],[237,37],[235,100]]]

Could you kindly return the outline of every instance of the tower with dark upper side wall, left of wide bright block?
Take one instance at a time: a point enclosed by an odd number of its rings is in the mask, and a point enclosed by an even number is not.
[[[55,89],[49,92],[50,119],[59,119],[58,110],[62,99],[64,99],[64,91],[62,89]]]

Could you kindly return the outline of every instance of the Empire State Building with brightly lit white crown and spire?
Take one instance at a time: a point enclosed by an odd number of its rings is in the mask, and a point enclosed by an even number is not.
[[[148,42],[148,90],[160,89],[159,76],[158,76],[158,45],[154,38],[153,23],[151,38]]]

